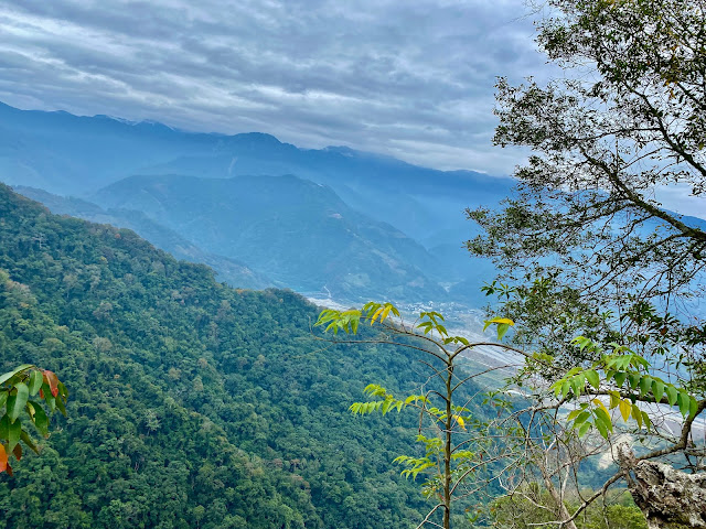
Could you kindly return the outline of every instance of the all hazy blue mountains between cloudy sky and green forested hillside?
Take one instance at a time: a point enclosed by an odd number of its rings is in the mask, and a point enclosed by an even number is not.
[[[56,213],[133,228],[231,284],[398,302],[462,301],[492,267],[462,248],[467,206],[511,181],[261,133],[190,133],[0,105],[0,181]],[[22,191],[22,190],[20,190]],[[87,202],[86,202],[87,201]]]

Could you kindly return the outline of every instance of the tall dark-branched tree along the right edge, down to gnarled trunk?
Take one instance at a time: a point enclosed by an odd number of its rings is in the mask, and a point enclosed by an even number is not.
[[[642,453],[617,454],[611,478],[628,483],[650,526],[704,527],[706,446],[693,427],[706,406],[706,328],[689,301],[705,293],[706,225],[659,196],[706,191],[706,3],[546,7],[537,41],[566,76],[499,80],[495,142],[532,155],[502,210],[468,212],[484,229],[468,247],[520,283],[486,290],[517,323],[515,345],[552,358],[531,371],[579,406],[569,415],[578,433],[614,439],[617,411],[637,421],[633,433],[646,424],[654,434]]]

